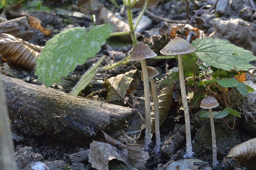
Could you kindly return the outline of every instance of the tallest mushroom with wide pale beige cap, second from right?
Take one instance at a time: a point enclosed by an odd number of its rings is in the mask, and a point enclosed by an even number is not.
[[[183,72],[183,61],[182,55],[189,54],[195,51],[190,43],[180,37],[175,37],[171,40],[163,49],[161,49],[160,53],[166,56],[176,56],[178,55],[178,64],[179,64],[179,77],[180,77],[180,91],[181,98],[183,102],[184,115],[185,115],[185,125],[186,125],[186,147],[187,152],[186,155],[190,158],[192,157],[192,143],[191,143],[191,132],[190,132],[190,114],[187,105],[187,94],[184,82],[184,72]]]

